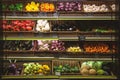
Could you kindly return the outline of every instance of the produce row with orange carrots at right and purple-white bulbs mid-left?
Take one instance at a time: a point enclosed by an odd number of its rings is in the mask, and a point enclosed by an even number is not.
[[[59,41],[59,40],[14,40],[5,41],[4,50],[5,51],[52,51],[52,52],[66,52],[66,53],[84,53],[84,54],[115,54],[116,45],[114,43],[105,42],[85,42],[83,45],[76,45],[78,42],[72,41],[71,46],[67,46],[69,41]]]

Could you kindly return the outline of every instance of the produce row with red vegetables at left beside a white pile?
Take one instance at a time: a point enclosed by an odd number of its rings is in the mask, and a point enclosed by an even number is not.
[[[65,32],[65,31],[75,31],[78,32],[98,32],[98,33],[115,33],[115,28],[111,26],[79,26],[83,23],[76,21],[53,21],[47,19],[39,20],[3,20],[3,25],[0,27],[3,31],[10,32]]]

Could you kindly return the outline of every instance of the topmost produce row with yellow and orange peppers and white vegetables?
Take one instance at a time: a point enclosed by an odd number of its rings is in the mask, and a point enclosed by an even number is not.
[[[83,12],[109,12],[116,10],[116,4],[111,2],[84,2],[84,1],[59,1],[59,2],[36,2],[2,4],[3,10],[27,11],[27,12],[55,12],[55,11],[83,11]]]

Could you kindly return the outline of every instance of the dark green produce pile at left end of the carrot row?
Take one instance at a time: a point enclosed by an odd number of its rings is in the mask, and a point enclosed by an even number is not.
[[[3,49],[10,51],[24,51],[24,50],[32,50],[32,41],[21,41],[21,40],[13,40],[13,41],[5,41]]]

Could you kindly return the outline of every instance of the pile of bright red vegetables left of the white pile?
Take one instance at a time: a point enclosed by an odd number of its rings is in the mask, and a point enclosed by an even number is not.
[[[3,31],[32,31],[35,22],[32,20],[3,20]]]

